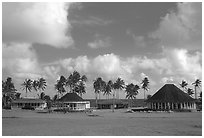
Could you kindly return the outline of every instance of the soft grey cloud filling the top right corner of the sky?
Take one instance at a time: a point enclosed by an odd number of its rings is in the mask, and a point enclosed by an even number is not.
[[[150,37],[168,47],[201,49],[202,3],[178,3],[176,12],[166,14]]]

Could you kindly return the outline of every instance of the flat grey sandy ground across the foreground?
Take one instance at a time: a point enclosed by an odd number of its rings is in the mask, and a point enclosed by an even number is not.
[[[3,110],[3,136],[201,136],[202,113],[85,113]]]

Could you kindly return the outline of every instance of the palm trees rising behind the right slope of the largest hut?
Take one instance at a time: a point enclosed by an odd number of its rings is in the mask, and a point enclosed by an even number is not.
[[[181,86],[181,88],[183,89],[183,91],[192,96],[195,92],[195,99],[197,99],[197,88],[201,87],[201,80],[196,79],[195,82],[192,83],[192,85],[194,86],[194,90],[191,88],[187,88],[188,83],[185,80],[182,80],[181,83],[179,84]]]

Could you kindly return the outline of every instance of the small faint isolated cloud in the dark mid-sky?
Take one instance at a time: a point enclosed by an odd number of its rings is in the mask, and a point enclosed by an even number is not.
[[[88,47],[97,49],[97,48],[104,48],[104,47],[110,47],[111,44],[111,38],[110,37],[102,37],[101,35],[95,35],[95,40],[93,42],[88,43]]]

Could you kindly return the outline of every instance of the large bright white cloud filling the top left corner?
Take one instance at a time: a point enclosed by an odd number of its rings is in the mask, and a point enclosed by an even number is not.
[[[3,3],[3,42],[72,46],[69,7],[68,3]]]

